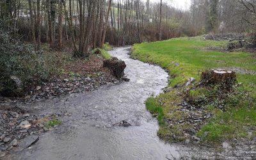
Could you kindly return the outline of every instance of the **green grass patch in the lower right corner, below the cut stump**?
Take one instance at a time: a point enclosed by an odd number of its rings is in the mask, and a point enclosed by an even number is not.
[[[216,114],[211,122],[205,125],[198,136],[207,141],[232,140],[234,138],[252,138],[247,129],[255,132],[256,110],[248,108],[230,109]],[[207,133],[207,134],[205,134]]]

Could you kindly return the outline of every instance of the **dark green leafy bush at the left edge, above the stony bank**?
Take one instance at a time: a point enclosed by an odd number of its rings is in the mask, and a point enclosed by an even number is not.
[[[48,76],[42,51],[13,37],[12,30],[0,22],[0,94],[4,96],[24,95],[29,86]],[[12,76],[20,80],[19,90]]]

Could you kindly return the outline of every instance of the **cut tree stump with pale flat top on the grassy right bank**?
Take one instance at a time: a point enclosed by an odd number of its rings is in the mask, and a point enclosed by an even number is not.
[[[236,83],[236,72],[221,68],[207,70],[202,72],[201,82],[204,84],[221,84],[230,87]]]

